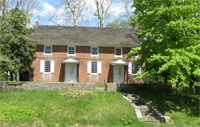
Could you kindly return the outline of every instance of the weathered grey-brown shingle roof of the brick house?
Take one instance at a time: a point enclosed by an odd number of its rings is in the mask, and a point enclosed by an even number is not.
[[[140,45],[138,30],[74,26],[38,26],[29,40],[36,44]]]

